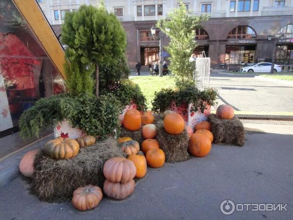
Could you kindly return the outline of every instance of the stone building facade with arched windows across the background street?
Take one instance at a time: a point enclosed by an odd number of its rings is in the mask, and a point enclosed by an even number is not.
[[[81,4],[98,5],[100,0],[38,0],[56,34],[67,11]],[[207,13],[208,22],[196,30],[196,54],[210,57],[211,64],[272,61],[293,69],[293,0],[184,0],[190,14]],[[150,28],[178,7],[176,0],[105,0],[127,34],[127,59],[131,67],[158,61],[159,41]],[[272,40],[270,40],[270,37]],[[163,44],[168,44],[167,36]],[[166,59],[167,52],[163,52]]]

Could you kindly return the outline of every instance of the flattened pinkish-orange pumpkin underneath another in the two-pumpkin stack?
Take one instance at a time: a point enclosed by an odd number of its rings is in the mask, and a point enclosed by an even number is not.
[[[104,182],[104,193],[107,197],[115,198],[115,199],[124,199],[131,195],[134,191],[134,181],[130,179],[126,183],[121,182],[111,182],[108,179]]]

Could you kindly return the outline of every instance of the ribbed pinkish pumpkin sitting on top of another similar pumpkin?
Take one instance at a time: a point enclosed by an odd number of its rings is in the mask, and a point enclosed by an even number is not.
[[[125,183],[136,175],[136,167],[131,160],[113,157],[105,162],[103,173],[109,181]]]

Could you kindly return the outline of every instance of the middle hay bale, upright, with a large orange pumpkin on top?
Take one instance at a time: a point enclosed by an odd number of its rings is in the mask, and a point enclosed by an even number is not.
[[[189,159],[188,154],[188,133],[184,131],[180,134],[169,134],[164,129],[163,121],[157,121],[156,139],[160,144],[160,148],[164,151],[166,162],[175,163]]]

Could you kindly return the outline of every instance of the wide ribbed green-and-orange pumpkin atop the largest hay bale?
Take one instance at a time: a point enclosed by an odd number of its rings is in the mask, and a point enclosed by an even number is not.
[[[68,137],[57,137],[53,140],[49,140],[44,147],[44,152],[48,156],[54,159],[68,159],[76,156],[80,146],[74,139]]]

